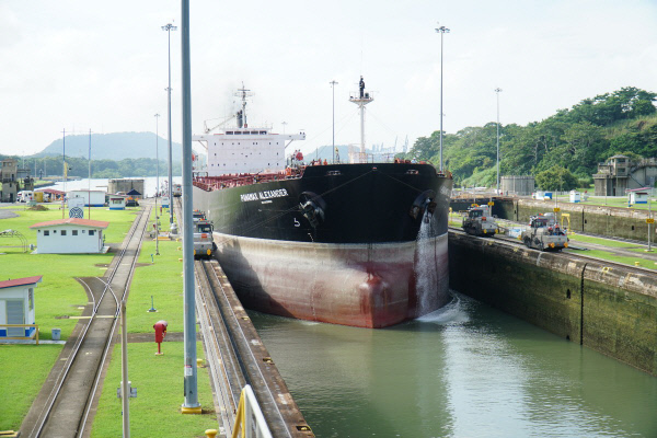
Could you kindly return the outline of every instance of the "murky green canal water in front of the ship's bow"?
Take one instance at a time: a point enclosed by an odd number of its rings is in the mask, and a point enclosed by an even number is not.
[[[454,293],[385,330],[251,313],[325,437],[657,437],[657,378]]]

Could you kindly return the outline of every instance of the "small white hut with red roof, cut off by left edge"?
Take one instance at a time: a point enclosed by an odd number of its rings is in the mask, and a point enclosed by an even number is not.
[[[34,288],[42,276],[0,281],[0,341],[8,337],[32,337],[35,327],[7,327],[7,324],[36,324]]]

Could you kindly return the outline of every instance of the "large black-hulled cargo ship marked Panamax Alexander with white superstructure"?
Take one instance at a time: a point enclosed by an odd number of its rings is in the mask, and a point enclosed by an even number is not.
[[[250,127],[242,87],[235,127],[194,136],[207,148],[194,208],[214,222],[219,260],[247,309],[301,320],[385,327],[448,301],[452,178],[431,164],[313,160],[286,147],[304,132]]]

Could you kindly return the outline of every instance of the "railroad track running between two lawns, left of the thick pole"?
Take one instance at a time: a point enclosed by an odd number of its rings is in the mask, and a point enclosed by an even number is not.
[[[150,211],[150,206],[141,210],[106,277],[97,277],[96,285],[80,280],[92,298],[91,314],[83,316],[89,322],[74,339],[71,353],[66,358],[37,420],[27,434],[28,437],[81,437],[91,426],[90,412],[113,345],[120,302],[127,299]],[[126,265],[129,266],[128,269],[125,268]],[[71,337],[73,336],[74,332]]]

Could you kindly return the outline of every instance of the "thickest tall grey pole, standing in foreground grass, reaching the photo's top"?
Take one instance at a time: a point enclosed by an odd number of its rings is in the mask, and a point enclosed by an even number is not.
[[[185,402],[183,414],[200,414],[196,368],[196,300],[194,288],[194,230],[192,220],[192,84],[189,73],[189,0],[182,0],[181,48],[183,65],[183,293],[185,297]]]

